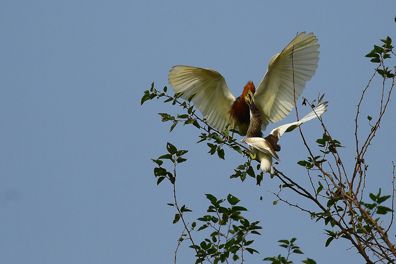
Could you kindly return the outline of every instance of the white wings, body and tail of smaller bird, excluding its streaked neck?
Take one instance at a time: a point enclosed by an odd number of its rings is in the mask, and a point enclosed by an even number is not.
[[[318,106],[316,106],[303,118],[293,123],[278,126],[277,128],[273,129],[267,137],[250,137],[241,140],[242,143],[245,143],[249,146],[251,152],[253,153],[253,155],[255,155],[255,159],[261,163],[260,168],[262,171],[269,172],[271,175],[274,174],[272,158],[281,161],[276,154],[274,148],[280,150],[280,146],[277,145],[277,142],[285,132],[293,131],[302,123],[309,121],[315,117],[319,117],[327,111],[326,107],[328,102],[321,103],[321,99],[319,100]]]

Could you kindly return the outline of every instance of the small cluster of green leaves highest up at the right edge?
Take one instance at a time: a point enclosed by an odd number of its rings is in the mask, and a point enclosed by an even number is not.
[[[366,55],[366,57],[372,58],[370,59],[371,62],[383,64],[385,59],[391,57],[390,53],[395,54],[393,52],[394,46],[392,46],[392,39],[389,36],[385,40],[381,41],[384,43],[384,45],[381,47],[374,45],[374,49]],[[383,69],[378,68],[377,72],[384,79],[392,79],[395,77],[395,73],[392,73],[392,71],[389,70],[389,67]]]

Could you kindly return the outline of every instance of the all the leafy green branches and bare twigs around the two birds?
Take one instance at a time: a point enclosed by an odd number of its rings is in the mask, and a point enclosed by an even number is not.
[[[371,62],[377,64],[356,106],[356,118],[354,120],[356,156],[354,157],[352,173],[347,173],[345,164],[339,153],[339,150],[345,147],[340,141],[332,137],[329,129],[327,129],[323,123],[322,118],[319,117],[323,128],[321,138],[316,140],[316,148],[319,154],[308,145],[308,141],[305,139],[299,127],[301,139],[308,152],[308,157],[299,160],[297,164],[306,169],[309,178],[308,186],[304,186],[297,180],[293,180],[301,177],[291,177],[275,169],[276,173],[274,176],[280,181],[279,190],[277,192],[269,191],[278,199],[274,201],[274,205],[281,201],[289,206],[305,211],[316,222],[320,220],[323,221],[325,226],[327,226],[324,230],[325,234],[328,236],[325,247],[329,246],[334,240],[340,238],[347,239],[350,241],[352,247],[364,258],[366,263],[369,264],[374,264],[376,262],[394,263],[396,260],[395,244],[388,236],[388,231],[394,219],[394,198],[396,192],[395,164],[393,163],[393,171],[391,172],[393,175],[393,192],[391,195],[383,195],[381,189],[375,194],[369,193],[369,195],[366,195],[365,192],[366,177],[370,176],[368,174],[369,169],[365,161],[365,155],[369,151],[369,146],[373,144],[374,137],[379,133],[382,117],[391,102],[391,94],[395,86],[396,65],[392,67],[388,65],[391,55],[395,55],[392,39],[387,37],[381,40],[381,42],[383,43],[382,46],[374,45],[374,49],[366,55],[366,57],[371,58]],[[363,134],[366,134],[363,136],[363,140],[359,140],[359,135],[362,134],[358,125],[358,121],[361,122],[359,119],[361,106],[365,99],[364,96],[371,87],[374,78],[382,79],[379,113],[376,117],[367,116],[369,131],[363,132]],[[254,170],[251,164],[252,157],[249,155],[249,150],[242,144],[236,142],[236,139],[230,139],[228,137],[229,132],[238,133],[238,131],[218,131],[212,128],[204,118],[196,114],[194,106],[191,105],[191,100],[194,95],[187,101],[180,102],[179,98],[181,95],[181,93],[175,94],[174,96],[168,95],[166,87],[164,87],[163,92],[159,92],[154,88],[154,83],[152,83],[151,88],[144,92],[141,104],[154,98],[165,98],[164,103],[172,103],[172,105],[181,106],[185,112],[177,114],[176,116],[168,113],[158,113],[163,122],[171,122],[170,132],[179,123],[183,123],[183,126],[193,124],[199,130],[203,131],[203,133],[198,136],[199,140],[197,143],[206,142],[210,155],[217,153],[219,158],[225,159],[226,151],[223,147],[228,146],[229,149],[247,158],[243,164],[238,165],[234,169],[235,173],[232,174],[230,178],[240,178],[241,181],[244,182],[248,175],[255,178],[256,184],[260,185],[263,179],[263,173],[259,171],[259,164],[256,170]],[[303,104],[304,103],[306,103],[306,99],[304,99]],[[314,107],[313,104],[310,105]],[[297,106],[296,114],[298,119]],[[259,234],[256,230],[261,227],[257,225],[258,221],[250,223],[246,218],[241,216],[241,211],[246,211],[246,209],[238,206],[237,204],[240,201],[231,194],[227,199],[221,200],[217,200],[213,195],[206,195],[211,205],[207,210],[208,214],[198,218],[198,221],[202,222],[198,231],[209,228],[212,229],[213,232],[201,243],[195,244],[193,242],[191,232],[194,230],[197,223],[193,222],[189,225],[184,220],[184,212],[191,210],[185,205],[182,207],[178,206],[174,185],[176,180],[176,165],[186,161],[182,156],[186,154],[187,151],[178,151],[176,147],[169,143],[167,144],[167,150],[168,154],[158,159],[153,159],[158,165],[158,167],[154,168],[154,175],[157,177],[157,184],[161,183],[164,179],[168,179],[173,184],[174,203],[169,204],[177,210],[173,222],[177,223],[182,219],[184,226],[182,235],[178,241],[177,249],[183,240],[190,240],[190,247],[194,248],[196,252],[196,263],[218,263],[219,261],[228,263],[230,256],[232,256],[235,262],[239,259],[237,252],[241,252],[242,263],[244,263],[244,252],[247,251],[250,254],[258,253],[256,250],[247,247],[252,243],[252,240],[246,240],[246,237],[249,234]],[[164,159],[168,159],[173,163],[173,173],[161,166]],[[285,199],[284,193],[286,190],[298,194],[299,198],[311,201],[312,203],[310,205],[313,207],[306,206],[303,208],[296,201]],[[226,200],[229,206],[222,206],[222,203]],[[389,201],[391,201],[391,206],[389,206]],[[390,214],[390,221],[387,227],[383,227],[386,220],[383,220],[382,217],[387,214]],[[224,229],[226,230],[224,231]],[[288,249],[287,257],[279,255],[278,257],[266,258],[264,260],[272,261],[276,264],[292,263],[289,261],[289,256],[292,253],[297,253],[295,250],[298,249],[296,248],[297,246],[294,245],[295,240],[296,239],[292,239],[291,241],[279,241],[283,243],[283,246],[281,245],[282,247]],[[177,249],[175,252],[175,263]],[[309,264],[315,263],[310,259],[303,262]]]

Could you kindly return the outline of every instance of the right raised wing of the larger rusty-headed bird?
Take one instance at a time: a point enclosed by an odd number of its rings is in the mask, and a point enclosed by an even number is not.
[[[318,67],[319,44],[316,44],[317,41],[313,33],[302,32],[281,53],[271,58],[268,70],[254,94],[263,120],[278,122],[293,109],[293,71],[297,101],[305,88],[305,83],[312,78]]]

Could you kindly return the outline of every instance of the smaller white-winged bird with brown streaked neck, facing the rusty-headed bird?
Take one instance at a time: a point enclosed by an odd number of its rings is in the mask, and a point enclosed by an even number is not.
[[[260,129],[260,110],[255,105],[253,94],[251,92],[247,93],[245,100],[250,109],[250,125],[247,130],[247,138],[242,139],[241,142],[249,146],[250,151],[253,154],[252,158],[261,163],[260,168],[262,171],[269,172],[271,175],[275,173],[274,167],[272,166],[272,158],[281,161],[276,152],[281,150],[281,146],[278,145],[278,140],[281,138],[283,133],[293,131],[302,123],[315,117],[319,117],[327,111],[326,107],[328,102],[322,103],[322,99],[323,96],[319,99],[318,105],[300,120],[278,126],[273,129],[268,136],[263,138],[263,133]]]

